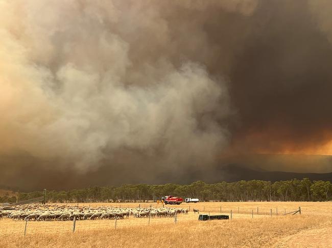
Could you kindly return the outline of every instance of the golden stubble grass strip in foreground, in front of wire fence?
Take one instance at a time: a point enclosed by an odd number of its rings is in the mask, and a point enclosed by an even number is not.
[[[232,221],[183,222],[78,231],[75,234],[34,234],[5,238],[1,247],[266,247],[278,237],[327,225],[326,218],[280,216]]]

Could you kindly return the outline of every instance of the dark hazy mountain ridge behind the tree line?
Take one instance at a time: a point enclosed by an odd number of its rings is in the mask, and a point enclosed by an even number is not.
[[[78,175],[79,176],[79,175]],[[205,183],[218,183],[218,182],[236,182],[236,181],[250,181],[250,180],[263,180],[263,181],[286,181],[292,179],[309,178],[311,181],[331,181],[332,182],[332,172],[330,173],[296,173],[296,172],[283,172],[283,171],[264,171],[255,170],[248,167],[241,166],[239,164],[231,163],[224,166],[219,166],[217,168],[204,168],[201,167],[199,170],[187,170],[185,174],[173,173],[173,171],[164,172],[160,176],[153,178],[147,177],[146,181],[130,181],[123,179],[122,183],[112,182],[105,178],[100,178],[101,180],[91,180],[89,177],[81,176],[79,184],[66,185],[70,182],[67,179],[59,181],[59,183],[51,182],[47,184],[46,182],[39,182],[39,184],[19,184],[13,185],[0,185],[0,189],[12,190],[21,192],[29,191],[41,191],[43,188],[48,190],[70,190],[73,188],[85,188],[89,186],[120,186],[121,184],[166,184],[166,183],[176,183],[176,184],[190,184],[195,181],[204,181]]]

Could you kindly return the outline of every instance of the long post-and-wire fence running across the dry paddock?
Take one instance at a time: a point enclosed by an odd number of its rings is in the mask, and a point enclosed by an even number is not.
[[[125,206],[123,206],[125,207]],[[150,207],[150,206],[149,206]],[[190,206],[188,214],[176,214],[173,217],[134,217],[123,219],[98,219],[98,220],[81,220],[76,218],[73,221],[14,221],[10,218],[3,218],[0,220],[0,237],[4,236],[29,236],[33,234],[64,234],[70,232],[93,231],[93,230],[108,230],[117,228],[129,227],[144,227],[157,224],[178,224],[186,221],[194,221],[198,219],[199,214],[228,215],[229,219],[238,218],[257,218],[265,216],[280,216],[287,213],[300,212],[294,209],[279,209],[279,208],[243,208],[224,209],[221,207],[205,207],[197,208],[199,213],[193,212],[193,207]]]

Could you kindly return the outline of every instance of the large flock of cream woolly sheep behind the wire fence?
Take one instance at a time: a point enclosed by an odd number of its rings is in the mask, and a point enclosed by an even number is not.
[[[17,221],[72,221],[86,219],[123,219],[129,216],[140,217],[174,217],[176,214],[187,214],[188,209],[181,208],[116,208],[89,206],[56,206],[27,204],[13,210],[0,210],[0,219],[4,217]]]

